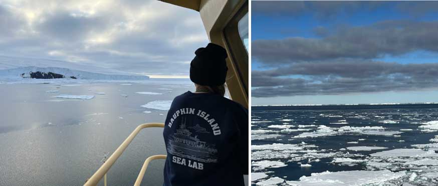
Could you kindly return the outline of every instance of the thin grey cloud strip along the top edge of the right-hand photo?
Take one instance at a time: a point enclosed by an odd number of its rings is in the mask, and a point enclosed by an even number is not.
[[[360,1],[360,0],[253,0],[253,15],[302,16],[310,14],[319,20],[335,19],[339,14],[353,14],[359,10],[385,8],[417,17],[434,13],[438,8],[436,1]]]

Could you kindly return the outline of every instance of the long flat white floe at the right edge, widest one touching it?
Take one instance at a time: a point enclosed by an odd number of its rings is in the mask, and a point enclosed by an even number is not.
[[[438,157],[434,151],[423,151],[420,149],[393,149],[389,151],[382,151],[378,153],[370,154],[370,156],[380,158],[393,158],[393,157]]]

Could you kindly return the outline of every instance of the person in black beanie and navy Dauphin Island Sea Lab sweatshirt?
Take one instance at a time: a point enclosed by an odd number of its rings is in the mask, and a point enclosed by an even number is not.
[[[190,80],[196,91],[173,99],[163,136],[164,186],[244,186],[249,170],[248,110],[224,97],[226,50],[213,43],[195,51]]]

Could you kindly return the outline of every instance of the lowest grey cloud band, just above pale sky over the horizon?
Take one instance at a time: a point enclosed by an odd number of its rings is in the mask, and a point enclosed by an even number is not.
[[[438,86],[438,63],[306,62],[252,76],[254,97],[412,91]]]

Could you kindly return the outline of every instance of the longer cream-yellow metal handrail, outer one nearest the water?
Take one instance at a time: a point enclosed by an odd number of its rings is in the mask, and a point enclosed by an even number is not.
[[[94,173],[93,176],[88,179],[88,181],[84,184],[84,186],[97,186],[99,181],[106,175],[111,166],[116,162],[116,160],[122,155],[123,151],[125,151],[126,147],[131,143],[131,141],[137,136],[138,132],[144,128],[149,127],[164,127],[164,123],[145,123],[139,125],[135,128],[134,131],[126,138],[125,141],[114,151],[114,153],[108,158],[108,160],[100,166],[100,168]]]

